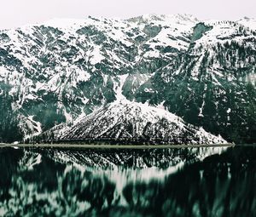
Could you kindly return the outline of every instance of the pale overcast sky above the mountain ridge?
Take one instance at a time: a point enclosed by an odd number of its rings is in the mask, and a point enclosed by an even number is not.
[[[256,18],[256,0],[2,0],[0,29],[53,18],[88,15],[127,18],[139,14],[194,14],[197,18]]]

